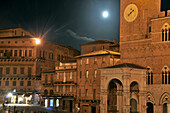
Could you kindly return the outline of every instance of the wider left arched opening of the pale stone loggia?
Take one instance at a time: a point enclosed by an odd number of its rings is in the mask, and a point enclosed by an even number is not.
[[[108,86],[108,99],[107,99],[107,112],[108,113],[118,113],[120,107],[118,108],[118,103],[120,105],[121,102],[121,92],[123,89],[122,83],[117,80],[113,79],[110,81]]]

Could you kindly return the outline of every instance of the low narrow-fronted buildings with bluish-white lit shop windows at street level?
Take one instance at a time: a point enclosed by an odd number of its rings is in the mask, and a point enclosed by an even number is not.
[[[77,62],[62,61],[55,71],[42,73],[42,104],[75,112],[77,98]]]

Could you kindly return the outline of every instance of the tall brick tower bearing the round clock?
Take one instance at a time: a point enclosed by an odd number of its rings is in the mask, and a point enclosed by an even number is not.
[[[126,60],[129,58],[143,57],[138,50],[152,42],[151,20],[161,15],[161,0],[121,0],[120,52],[122,62],[129,62]],[[131,60],[130,63],[135,63],[135,61]]]

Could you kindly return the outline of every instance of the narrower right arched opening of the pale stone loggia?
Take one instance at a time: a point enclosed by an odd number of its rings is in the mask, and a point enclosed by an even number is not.
[[[139,85],[137,82],[130,84],[130,113],[138,113]]]

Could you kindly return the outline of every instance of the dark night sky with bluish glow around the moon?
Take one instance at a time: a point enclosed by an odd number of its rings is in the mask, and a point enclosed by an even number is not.
[[[170,9],[168,0],[163,4]],[[0,29],[20,24],[37,37],[80,49],[94,40],[119,41],[119,9],[119,0],[1,0]]]

